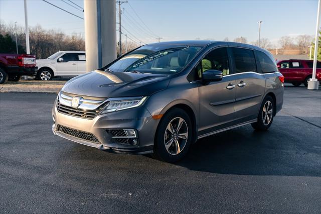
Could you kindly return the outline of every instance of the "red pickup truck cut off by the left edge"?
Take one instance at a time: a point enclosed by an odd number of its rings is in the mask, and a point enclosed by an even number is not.
[[[0,53],[0,84],[19,81],[21,76],[37,74],[36,56],[27,54]]]

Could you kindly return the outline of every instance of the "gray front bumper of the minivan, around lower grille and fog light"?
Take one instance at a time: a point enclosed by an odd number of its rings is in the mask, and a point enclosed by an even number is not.
[[[83,119],[58,112],[56,104],[52,110],[55,135],[86,146],[118,153],[148,154],[153,152],[154,134],[158,120],[152,119],[150,113],[143,107],[122,110],[98,115],[94,119]],[[58,126],[68,127],[80,132],[94,135],[99,142],[87,141],[58,130]],[[113,129],[135,129],[138,134],[138,144],[121,144],[109,134]]]

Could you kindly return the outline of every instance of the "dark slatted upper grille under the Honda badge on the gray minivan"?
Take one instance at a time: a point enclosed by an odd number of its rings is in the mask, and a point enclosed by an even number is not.
[[[80,110],[80,109],[74,109],[72,107],[69,107],[67,105],[63,105],[59,102],[59,99],[57,101],[57,109],[58,112],[71,115],[78,118],[85,118],[85,119],[93,119],[97,115],[99,115],[100,111],[104,108],[105,105],[99,106],[95,110]]]

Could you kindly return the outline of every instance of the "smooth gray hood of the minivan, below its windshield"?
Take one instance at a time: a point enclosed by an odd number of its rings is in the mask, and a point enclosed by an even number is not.
[[[69,80],[62,91],[96,97],[147,96],[167,88],[169,75],[95,70]]]

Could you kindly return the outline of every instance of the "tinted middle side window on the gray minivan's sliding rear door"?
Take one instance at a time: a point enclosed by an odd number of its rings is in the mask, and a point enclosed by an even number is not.
[[[256,72],[256,63],[252,50],[231,48],[235,62],[235,73]]]

